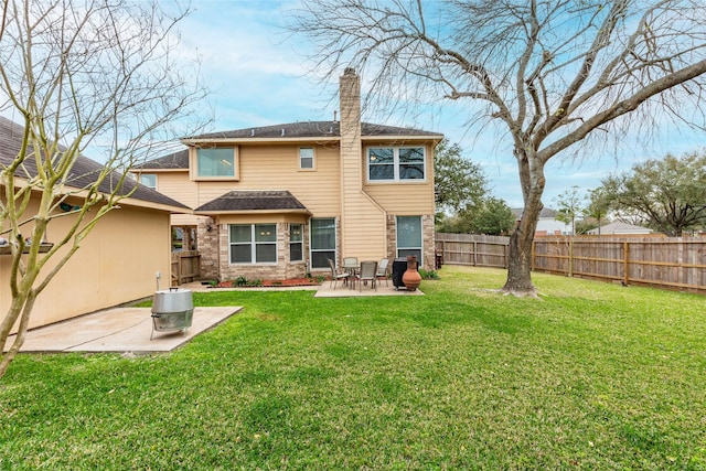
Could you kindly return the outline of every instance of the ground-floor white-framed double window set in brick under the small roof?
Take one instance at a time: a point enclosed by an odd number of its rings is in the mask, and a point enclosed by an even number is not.
[[[276,224],[232,224],[228,226],[231,264],[276,264]]]

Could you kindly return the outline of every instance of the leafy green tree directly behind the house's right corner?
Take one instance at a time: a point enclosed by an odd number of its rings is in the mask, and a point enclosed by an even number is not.
[[[462,156],[458,143],[443,139],[434,156],[434,192],[437,211],[458,212],[482,204],[489,192],[483,169]]]

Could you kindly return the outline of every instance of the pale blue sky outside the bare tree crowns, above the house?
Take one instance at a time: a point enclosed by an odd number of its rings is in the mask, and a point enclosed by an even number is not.
[[[279,28],[296,1],[192,0],[194,12],[179,26],[181,54],[201,58],[201,74],[212,90],[204,110],[213,110],[215,120],[204,132],[333,118],[338,109],[338,84],[324,88],[308,75],[307,63],[298,53],[309,47],[308,44],[295,43]],[[365,94],[365,77],[362,78]],[[510,140],[492,130],[468,127],[469,106],[468,101],[431,106],[414,117],[367,110],[363,119],[443,133],[461,146],[466,158],[483,168],[495,196],[511,207],[521,207]],[[598,186],[602,178],[629,170],[637,161],[661,158],[667,152],[681,156],[698,150],[706,141],[704,137],[704,133],[672,129],[649,147],[627,139],[582,163],[556,157],[546,168],[545,206],[556,207],[556,196],[574,185],[586,193]],[[86,156],[99,160],[99,156],[89,151]]]

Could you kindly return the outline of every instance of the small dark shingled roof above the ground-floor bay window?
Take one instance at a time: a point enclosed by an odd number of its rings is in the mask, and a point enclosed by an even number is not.
[[[195,214],[252,211],[292,211],[309,213],[288,191],[232,191],[194,210]]]

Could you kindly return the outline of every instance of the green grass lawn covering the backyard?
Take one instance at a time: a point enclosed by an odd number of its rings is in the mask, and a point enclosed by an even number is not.
[[[706,298],[446,266],[424,297],[194,293],[170,354],[22,354],[0,469],[706,470]]]

